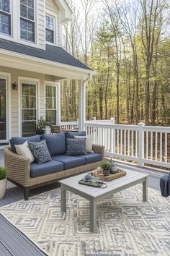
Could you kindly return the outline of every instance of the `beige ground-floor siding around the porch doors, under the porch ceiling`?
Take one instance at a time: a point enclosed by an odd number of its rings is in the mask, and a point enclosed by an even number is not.
[[[40,80],[40,86],[38,97],[39,97],[39,106],[37,108],[37,113],[40,116],[45,116],[45,80],[54,81],[55,77],[46,76],[45,74],[39,74],[35,72],[27,72],[19,69],[11,69],[7,67],[0,67],[0,72],[7,72],[11,74],[11,82],[17,82],[18,90],[12,90],[11,88],[11,116],[12,116],[12,137],[19,136],[19,77],[29,77],[32,79]],[[27,80],[27,79],[26,79]],[[21,114],[20,114],[21,115]],[[38,118],[40,118],[38,116]],[[21,119],[21,116],[20,116]]]

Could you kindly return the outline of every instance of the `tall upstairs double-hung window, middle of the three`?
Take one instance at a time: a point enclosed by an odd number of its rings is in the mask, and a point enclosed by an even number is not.
[[[20,0],[20,37],[35,42],[35,1]]]

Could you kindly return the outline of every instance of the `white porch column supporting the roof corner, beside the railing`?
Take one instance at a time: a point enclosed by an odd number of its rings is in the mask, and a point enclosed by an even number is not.
[[[79,80],[79,130],[84,129],[86,121],[86,82]]]

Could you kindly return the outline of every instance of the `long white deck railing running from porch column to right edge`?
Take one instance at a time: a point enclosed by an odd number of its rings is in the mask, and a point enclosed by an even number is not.
[[[102,124],[86,121],[86,133],[95,144],[105,146],[105,155],[170,168],[170,127]]]

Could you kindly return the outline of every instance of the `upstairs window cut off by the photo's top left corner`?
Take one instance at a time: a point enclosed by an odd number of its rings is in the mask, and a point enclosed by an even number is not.
[[[9,0],[0,0],[0,33],[11,35],[11,14]]]

